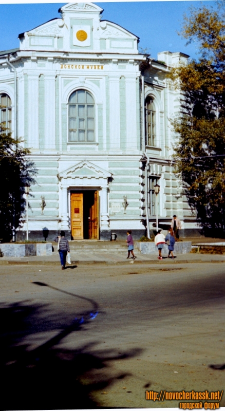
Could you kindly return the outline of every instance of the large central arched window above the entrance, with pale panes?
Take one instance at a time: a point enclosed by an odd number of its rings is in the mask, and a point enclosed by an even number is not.
[[[69,97],[69,142],[95,141],[95,101],[86,90]]]

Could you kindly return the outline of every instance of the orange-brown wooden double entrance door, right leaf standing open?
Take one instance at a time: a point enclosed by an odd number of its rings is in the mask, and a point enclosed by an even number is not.
[[[99,239],[99,192],[71,192],[71,235],[74,240]]]

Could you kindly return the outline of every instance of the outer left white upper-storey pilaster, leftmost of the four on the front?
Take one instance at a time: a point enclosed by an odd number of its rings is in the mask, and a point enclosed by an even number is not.
[[[28,148],[39,148],[39,76],[28,76]]]

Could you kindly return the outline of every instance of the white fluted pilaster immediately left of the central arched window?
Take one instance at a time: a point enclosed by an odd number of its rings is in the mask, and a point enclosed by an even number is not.
[[[55,150],[55,76],[45,76],[45,149]]]

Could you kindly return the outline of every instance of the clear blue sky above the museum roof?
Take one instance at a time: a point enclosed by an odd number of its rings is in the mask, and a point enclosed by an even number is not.
[[[165,1],[165,2],[105,2],[97,3],[104,9],[102,20],[110,20],[126,28],[140,38],[139,45],[157,58],[157,52],[182,51],[197,58],[197,44],[185,47],[186,41],[177,34],[183,13],[189,7],[202,4],[215,6],[216,1]],[[54,17],[60,17],[58,9],[65,3],[0,4],[0,50],[16,48],[17,36],[39,26]]]

